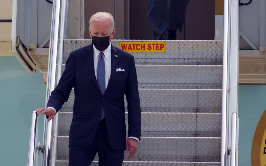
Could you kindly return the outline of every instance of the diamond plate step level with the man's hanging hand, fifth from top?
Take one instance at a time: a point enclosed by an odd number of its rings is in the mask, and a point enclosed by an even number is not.
[[[219,162],[220,144],[220,138],[141,137],[132,160]],[[58,136],[57,152],[58,160],[68,160],[68,136]]]

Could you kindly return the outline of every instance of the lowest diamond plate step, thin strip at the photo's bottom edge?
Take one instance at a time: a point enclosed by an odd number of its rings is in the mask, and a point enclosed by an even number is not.
[[[220,162],[137,162],[124,161],[123,166],[220,166]],[[68,166],[68,161],[56,161],[56,166]],[[91,166],[99,166],[98,161],[93,161]]]

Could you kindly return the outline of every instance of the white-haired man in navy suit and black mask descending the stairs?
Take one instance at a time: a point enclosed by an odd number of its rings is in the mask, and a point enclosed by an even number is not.
[[[68,101],[74,87],[73,119],[69,132],[69,164],[90,165],[96,152],[99,165],[122,165],[136,153],[141,134],[141,111],[134,57],[110,44],[115,28],[110,13],[91,16],[92,44],[69,54],[65,70],[51,92],[45,114],[50,121]],[[126,139],[125,103],[128,135]]]

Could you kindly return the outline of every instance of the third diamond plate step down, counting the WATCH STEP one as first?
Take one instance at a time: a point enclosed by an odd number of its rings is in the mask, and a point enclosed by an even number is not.
[[[141,108],[221,108],[221,89],[139,89]],[[63,107],[73,107],[74,90]],[[125,98],[125,107],[127,101]]]

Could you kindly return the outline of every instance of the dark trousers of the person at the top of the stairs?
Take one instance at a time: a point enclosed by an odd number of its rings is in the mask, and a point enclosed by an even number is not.
[[[148,18],[155,40],[167,40],[168,30],[182,31],[188,3],[189,0],[170,0],[168,7],[167,0],[147,0]]]

